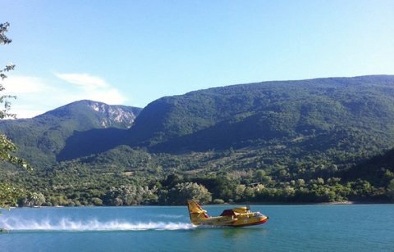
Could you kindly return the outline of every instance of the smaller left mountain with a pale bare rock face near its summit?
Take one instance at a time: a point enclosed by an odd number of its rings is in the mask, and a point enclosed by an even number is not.
[[[141,110],[80,100],[33,118],[2,120],[0,131],[17,144],[20,157],[36,166],[50,165],[76,152],[89,155],[110,148],[105,139],[126,132]],[[85,139],[89,145],[83,145]]]

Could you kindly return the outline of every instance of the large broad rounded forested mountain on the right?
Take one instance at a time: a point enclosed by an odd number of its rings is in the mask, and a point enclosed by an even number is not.
[[[393,136],[394,76],[370,75],[163,97],[141,111],[129,143],[171,153],[282,145],[297,155],[361,155],[393,146]]]

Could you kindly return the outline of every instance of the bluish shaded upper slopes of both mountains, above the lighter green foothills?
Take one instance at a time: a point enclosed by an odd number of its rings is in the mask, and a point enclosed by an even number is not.
[[[331,160],[362,159],[394,145],[394,76],[217,87],[162,97],[144,109],[81,100],[0,121],[0,131],[38,166],[121,145],[153,153],[248,148],[292,158],[319,152]]]

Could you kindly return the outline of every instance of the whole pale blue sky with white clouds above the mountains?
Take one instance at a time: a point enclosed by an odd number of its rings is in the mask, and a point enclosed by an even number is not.
[[[394,74],[394,1],[6,0],[12,110],[80,99],[145,107],[272,80]]]

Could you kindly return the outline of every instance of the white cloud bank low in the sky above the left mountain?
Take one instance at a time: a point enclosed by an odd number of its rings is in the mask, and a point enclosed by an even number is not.
[[[86,73],[55,74],[47,79],[10,75],[5,79],[2,94],[16,95],[11,113],[29,118],[82,99],[106,104],[124,104],[126,98],[116,87]],[[67,85],[72,84],[72,85]]]

